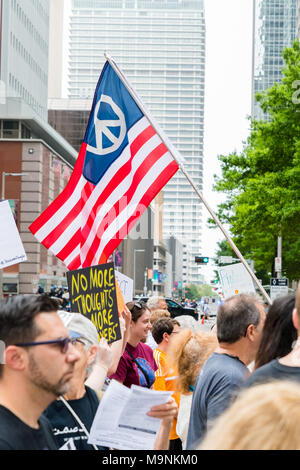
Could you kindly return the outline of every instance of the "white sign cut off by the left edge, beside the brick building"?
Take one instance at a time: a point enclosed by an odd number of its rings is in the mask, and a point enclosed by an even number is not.
[[[21,263],[27,256],[8,201],[0,202],[0,269]]]

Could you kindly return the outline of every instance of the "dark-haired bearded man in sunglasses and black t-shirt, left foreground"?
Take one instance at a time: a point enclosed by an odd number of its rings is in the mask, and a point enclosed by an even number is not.
[[[80,353],[47,295],[0,302],[0,450],[55,450],[47,406],[69,390]]]

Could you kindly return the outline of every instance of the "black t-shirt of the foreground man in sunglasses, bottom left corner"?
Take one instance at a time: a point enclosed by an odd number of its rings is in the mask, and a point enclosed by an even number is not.
[[[57,450],[49,421],[41,416],[39,425],[31,428],[0,405],[0,450]]]

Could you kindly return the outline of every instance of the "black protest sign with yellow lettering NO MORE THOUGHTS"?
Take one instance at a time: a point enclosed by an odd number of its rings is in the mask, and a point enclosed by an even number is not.
[[[121,338],[114,264],[67,272],[71,311],[86,315],[100,338],[113,343]]]

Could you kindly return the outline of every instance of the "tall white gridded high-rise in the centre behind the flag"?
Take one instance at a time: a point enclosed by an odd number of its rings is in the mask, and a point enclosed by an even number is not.
[[[205,17],[203,0],[72,0],[68,97],[91,99],[110,54],[185,159],[202,190]],[[164,188],[164,238],[188,245],[189,277],[200,270],[202,208],[178,172]]]

